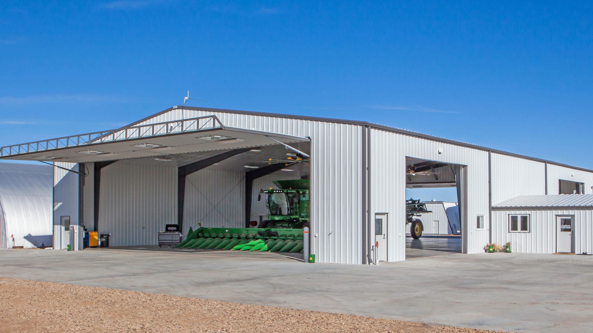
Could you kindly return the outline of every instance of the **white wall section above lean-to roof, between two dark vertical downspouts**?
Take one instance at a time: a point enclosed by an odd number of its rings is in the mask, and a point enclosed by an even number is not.
[[[492,204],[537,194],[546,194],[543,162],[492,153]]]

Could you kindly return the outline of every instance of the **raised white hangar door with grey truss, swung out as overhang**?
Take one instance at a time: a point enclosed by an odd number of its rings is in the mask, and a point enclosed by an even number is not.
[[[308,142],[287,136],[224,126],[215,116],[61,137],[0,148],[0,159],[46,162],[100,162],[226,151]]]

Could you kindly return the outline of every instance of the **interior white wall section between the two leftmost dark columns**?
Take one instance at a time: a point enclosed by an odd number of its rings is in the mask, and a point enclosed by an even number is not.
[[[109,246],[156,245],[177,223],[177,168],[119,161],[101,169],[98,232]]]

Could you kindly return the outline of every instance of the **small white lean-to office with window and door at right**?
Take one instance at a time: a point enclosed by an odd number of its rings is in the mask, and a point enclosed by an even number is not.
[[[515,252],[593,254],[593,194],[517,196],[492,213],[493,241]]]

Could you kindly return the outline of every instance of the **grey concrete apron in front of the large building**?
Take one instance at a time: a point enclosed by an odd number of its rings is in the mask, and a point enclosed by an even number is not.
[[[346,265],[263,252],[2,249],[0,276],[503,331],[593,331],[592,257],[433,252],[441,255]]]

